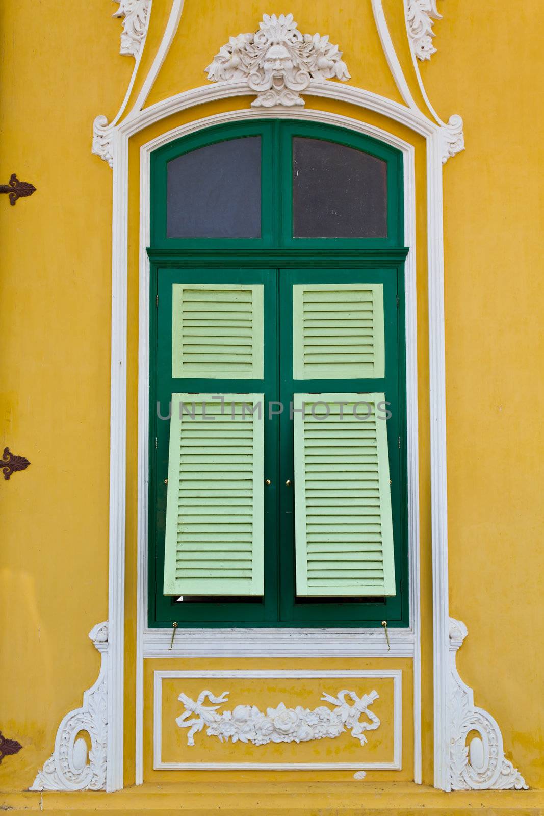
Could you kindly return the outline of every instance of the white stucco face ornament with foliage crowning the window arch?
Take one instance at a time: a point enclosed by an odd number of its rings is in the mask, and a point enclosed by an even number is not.
[[[327,36],[300,33],[292,14],[265,14],[259,31],[231,37],[205,70],[210,82],[247,82],[254,108],[292,107],[312,79],[350,79],[341,57]]]

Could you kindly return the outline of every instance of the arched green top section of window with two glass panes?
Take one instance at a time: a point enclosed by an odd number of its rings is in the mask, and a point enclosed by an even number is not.
[[[153,153],[152,190],[153,248],[403,245],[401,154],[334,126],[199,131]]]

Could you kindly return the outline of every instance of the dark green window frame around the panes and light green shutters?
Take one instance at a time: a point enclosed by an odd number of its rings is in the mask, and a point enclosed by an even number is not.
[[[262,139],[262,229],[260,238],[167,238],[166,165],[188,150],[223,139]],[[290,140],[294,135],[347,144],[387,162],[387,237],[290,237]],[[405,293],[402,243],[402,156],[369,137],[332,126],[265,120],[218,126],[170,143],[153,153],[150,258],[150,445],[148,530],[148,625],[170,627],[392,627],[409,625],[408,523],[405,408]],[[198,379],[172,376],[172,289],[179,284],[263,286],[263,379]],[[383,377],[293,378],[293,286],[333,283],[383,287],[385,371]],[[378,302],[379,301],[378,299]],[[381,372],[378,372],[381,373]],[[264,419],[262,597],[221,597],[177,602],[163,594],[166,495],[172,394],[263,393],[285,406],[294,393],[385,392],[395,595],[384,597],[297,598],[294,562],[293,422],[283,415]],[[391,399],[390,399],[391,397]],[[280,469],[281,468],[281,469]]]

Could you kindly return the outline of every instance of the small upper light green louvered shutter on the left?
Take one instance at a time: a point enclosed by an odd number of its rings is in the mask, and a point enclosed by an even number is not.
[[[263,379],[263,285],[172,285],[172,376]]]

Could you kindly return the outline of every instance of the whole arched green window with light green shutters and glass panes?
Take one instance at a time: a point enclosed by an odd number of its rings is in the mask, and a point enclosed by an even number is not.
[[[287,121],[153,155],[149,625],[408,625],[400,170]]]

